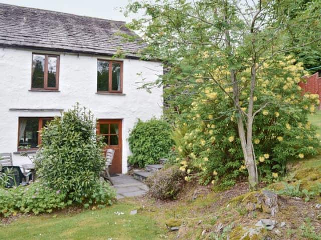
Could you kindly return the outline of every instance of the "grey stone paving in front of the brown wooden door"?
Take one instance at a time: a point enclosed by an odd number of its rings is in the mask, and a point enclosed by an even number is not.
[[[117,190],[117,199],[126,196],[140,196],[148,190],[148,186],[134,179],[132,176],[119,174],[118,176],[112,176],[111,179],[114,183],[113,187]]]

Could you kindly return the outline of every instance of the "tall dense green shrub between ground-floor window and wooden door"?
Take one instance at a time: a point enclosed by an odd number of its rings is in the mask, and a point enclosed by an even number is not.
[[[50,188],[65,192],[77,203],[91,204],[106,188],[99,181],[104,166],[104,143],[96,136],[93,115],[77,104],[42,130],[41,150],[36,156],[39,176]],[[104,202],[110,200],[106,195]]]

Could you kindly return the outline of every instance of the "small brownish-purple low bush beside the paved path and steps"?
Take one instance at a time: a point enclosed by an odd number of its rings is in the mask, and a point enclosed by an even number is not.
[[[184,185],[184,172],[178,166],[157,171],[145,181],[149,194],[156,199],[175,199]]]

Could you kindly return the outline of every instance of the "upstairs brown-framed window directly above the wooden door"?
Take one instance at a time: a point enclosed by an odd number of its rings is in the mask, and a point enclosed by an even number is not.
[[[97,61],[97,92],[122,93],[121,61]]]

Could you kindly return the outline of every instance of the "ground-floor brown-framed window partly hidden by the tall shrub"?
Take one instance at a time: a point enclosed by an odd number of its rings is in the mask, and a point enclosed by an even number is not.
[[[18,132],[18,150],[22,146],[29,146],[30,149],[37,149],[41,143],[41,135],[39,131],[53,117],[19,117],[19,132]]]

